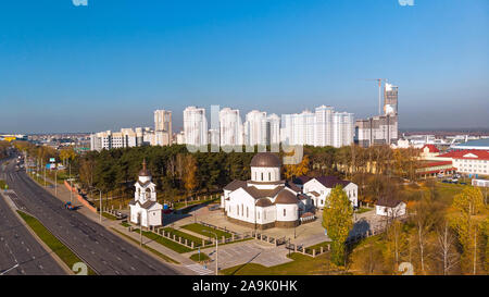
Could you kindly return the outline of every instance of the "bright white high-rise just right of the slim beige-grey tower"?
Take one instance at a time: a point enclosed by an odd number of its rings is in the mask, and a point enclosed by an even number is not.
[[[185,143],[191,146],[206,146],[208,120],[205,109],[188,107],[184,110]]]

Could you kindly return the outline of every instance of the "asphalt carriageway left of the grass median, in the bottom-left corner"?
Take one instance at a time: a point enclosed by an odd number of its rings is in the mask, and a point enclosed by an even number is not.
[[[0,196],[0,274],[64,275]]]

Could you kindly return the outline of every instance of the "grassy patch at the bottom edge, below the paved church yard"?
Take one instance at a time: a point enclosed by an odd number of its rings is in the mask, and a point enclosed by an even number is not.
[[[276,267],[264,267],[255,263],[247,263],[224,269],[225,275],[324,275],[331,271],[328,268],[328,255],[323,253],[316,258],[292,252],[288,258],[293,261]]]

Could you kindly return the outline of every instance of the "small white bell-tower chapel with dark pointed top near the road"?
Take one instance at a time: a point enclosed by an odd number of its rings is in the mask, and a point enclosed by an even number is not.
[[[145,227],[163,224],[163,206],[156,202],[155,184],[151,182],[151,173],[146,169],[146,160],[135,184],[134,200],[130,200],[130,222]]]

